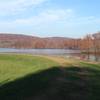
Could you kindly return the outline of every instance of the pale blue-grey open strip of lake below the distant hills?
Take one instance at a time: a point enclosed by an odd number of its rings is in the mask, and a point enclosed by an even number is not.
[[[0,53],[30,53],[30,54],[50,54],[50,55],[64,55],[72,53],[80,53],[79,50],[69,49],[12,49],[0,48]]]

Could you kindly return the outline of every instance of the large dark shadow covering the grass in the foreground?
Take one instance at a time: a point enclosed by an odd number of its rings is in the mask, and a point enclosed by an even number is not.
[[[52,67],[1,86],[0,100],[100,100],[100,71]]]

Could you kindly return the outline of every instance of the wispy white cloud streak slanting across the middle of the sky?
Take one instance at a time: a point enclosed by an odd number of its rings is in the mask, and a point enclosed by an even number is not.
[[[38,15],[31,16],[25,19],[15,19],[12,21],[1,22],[9,25],[43,25],[50,24],[64,19],[69,19],[72,16],[73,11],[71,9],[55,9],[45,10]]]

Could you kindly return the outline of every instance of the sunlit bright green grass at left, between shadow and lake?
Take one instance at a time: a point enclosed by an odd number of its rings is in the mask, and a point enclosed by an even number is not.
[[[57,65],[54,61],[38,56],[1,54],[0,85]]]

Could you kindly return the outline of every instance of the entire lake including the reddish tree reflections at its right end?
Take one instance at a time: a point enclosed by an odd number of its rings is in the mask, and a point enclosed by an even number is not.
[[[64,57],[77,57],[79,59],[88,59],[87,55],[81,54],[80,50],[70,49],[12,49],[0,48],[0,53],[28,53],[34,55],[60,55]],[[100,56],[98,56],[100,61]],[[90,61],[95,61],[95,56],[89,56]]]

